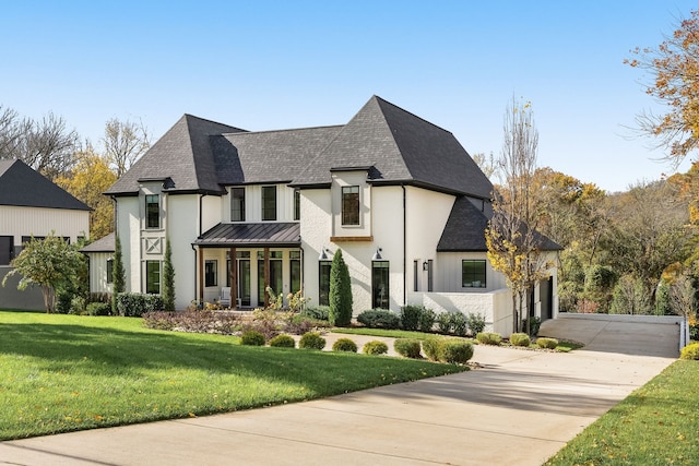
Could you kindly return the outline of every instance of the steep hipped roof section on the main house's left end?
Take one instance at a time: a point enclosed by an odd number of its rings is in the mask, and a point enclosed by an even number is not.
[[[170,191],[221,193],[209,138],[241,132],[185,115],[105,194],[135,194],[140,179],[171,179]]]

